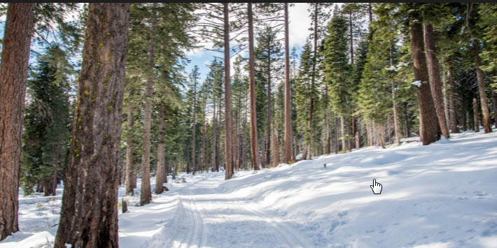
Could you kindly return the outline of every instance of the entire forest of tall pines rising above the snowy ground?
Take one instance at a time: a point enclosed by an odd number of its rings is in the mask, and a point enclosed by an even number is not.
[[[63,184],[55,247],[118,247],[120,187],[497,128],[496,3],[307,3],[290,47],[293,4],[0,3],[0,240],[20,190]]]

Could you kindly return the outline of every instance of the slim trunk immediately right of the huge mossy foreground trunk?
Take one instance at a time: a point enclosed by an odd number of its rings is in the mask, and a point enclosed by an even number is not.
[[[134,95],[134,89],[130,90],[130,98]],[[126,196],[134,195],[134,187],[137,182],[137,168],[133,161],[133,108],[130,101],[127,112],[127,137],[126,137]]]

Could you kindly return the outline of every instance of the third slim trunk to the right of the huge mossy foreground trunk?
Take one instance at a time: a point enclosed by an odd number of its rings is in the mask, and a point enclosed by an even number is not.
[[[165,143],[165,128],[166,128],[166,110],[164,103],[159,106],[159,136],[157,145],[157,173],[155,175],[155,194],[162,194],[164,188],[164,170],[166,169],[166,143]]]

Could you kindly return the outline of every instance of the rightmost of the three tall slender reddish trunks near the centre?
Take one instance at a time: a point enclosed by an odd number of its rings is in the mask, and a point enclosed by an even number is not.
[[[292,96],[290,86],[290,41],[288,40],[288,3],[285,4],[285,160],[292,161]]]

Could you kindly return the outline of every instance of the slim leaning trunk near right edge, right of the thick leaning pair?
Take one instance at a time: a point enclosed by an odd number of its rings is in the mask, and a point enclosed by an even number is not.
[[[479,58],[479,43],[472,41],[472,46],[475,52],[475,68],[478,78],[479,104],[482,106],[483,129],[485,133],[491,133],[492,126],[490,122],[489,104],[486,102],[484,75],[482,69],[479,68],[481,64],[481,59]]]

